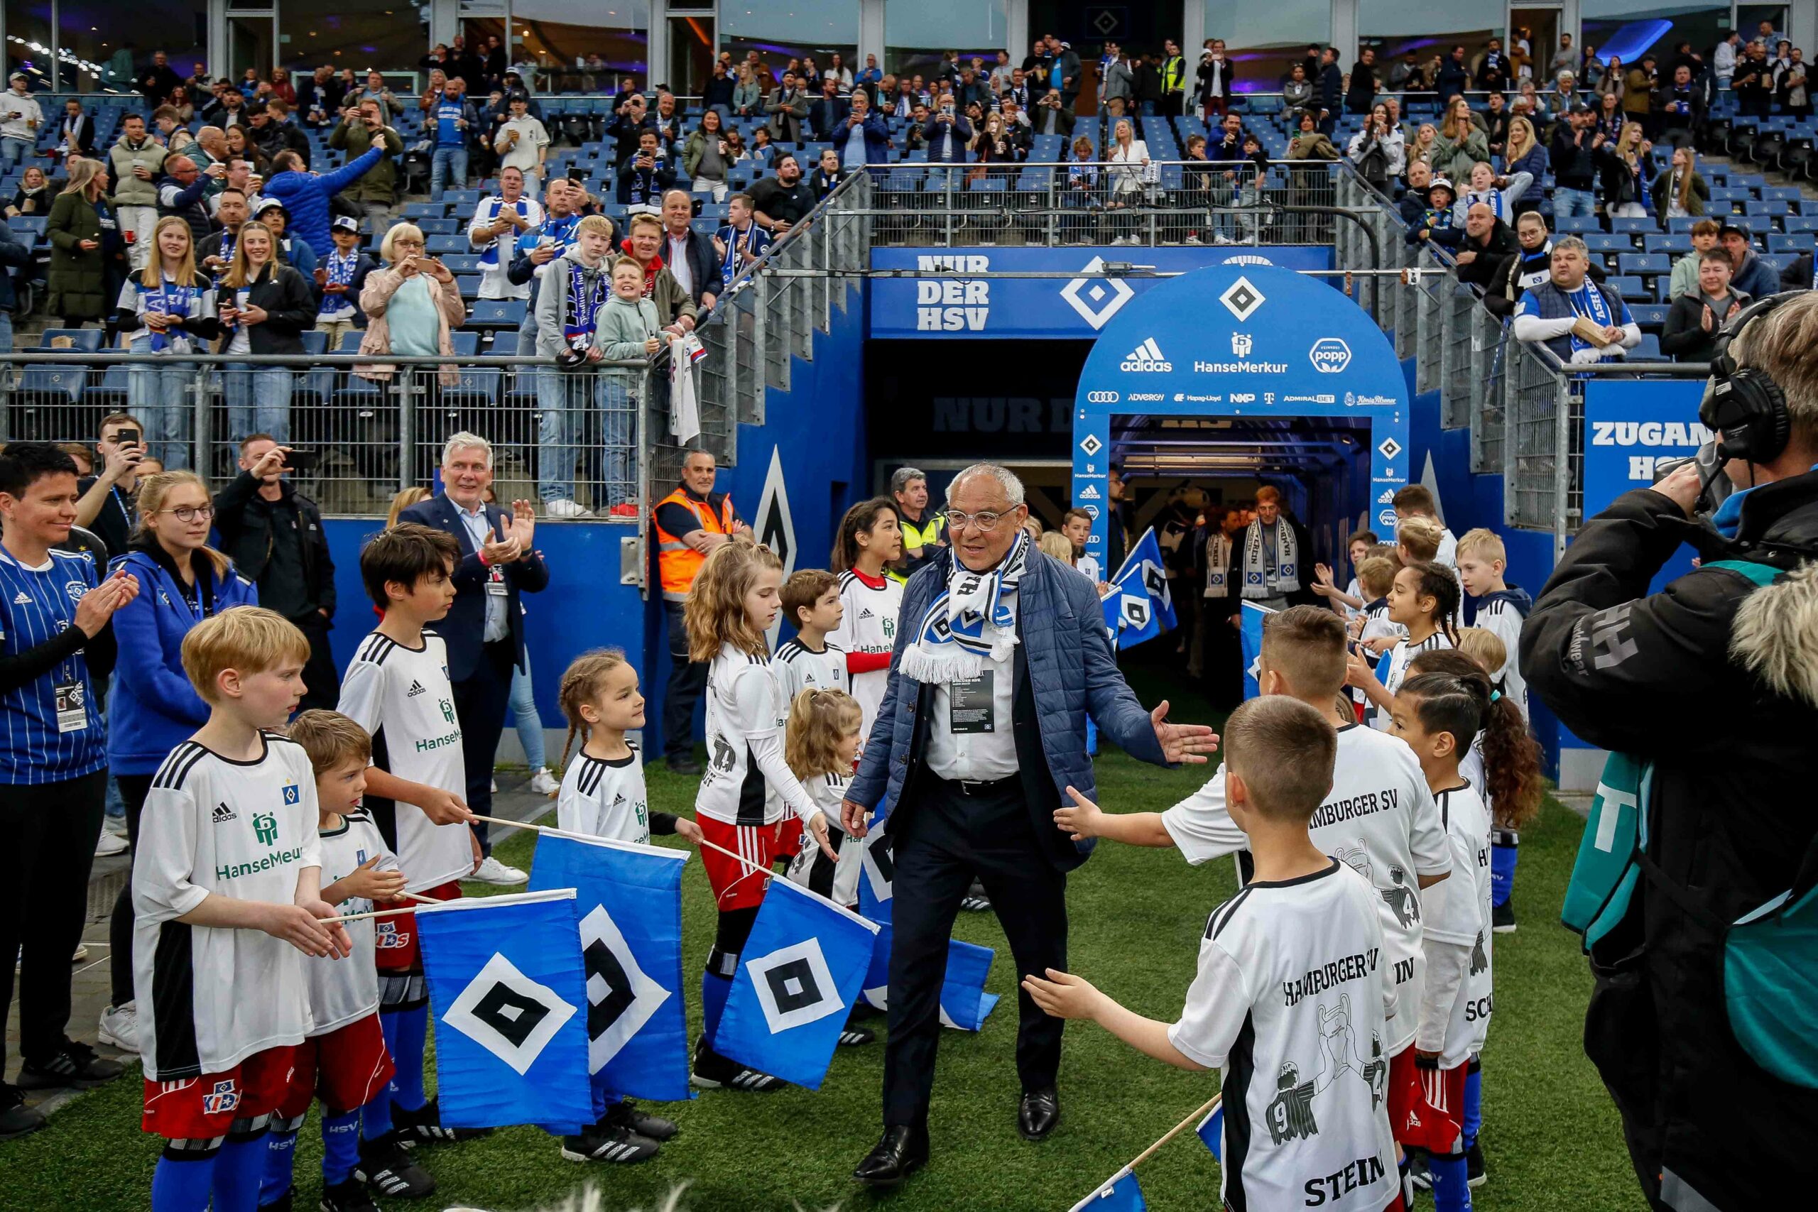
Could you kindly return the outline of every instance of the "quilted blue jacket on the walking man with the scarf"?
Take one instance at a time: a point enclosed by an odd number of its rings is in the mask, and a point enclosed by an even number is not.
[[[953,567],[953,549],[914,571],[904,587],[898,612],[896,651],[891,654],[891,681],[871,725],[871,743],[858,763],[858,774],[845,798],[874,809],[891,803],[891,818],[914,810],[913,781],[927,756],[927,720],[934,690],[900,672],[904,649],[920,632],[922,618]],[[1162,741],[1154,736],[1149,712],[1136,701],[1118,672],[1098,605],[1096,587],[1067,565],[1029,552],[1029,567],[1016,589],[1016,685],[1013,729],[1022,765],[1029,814],[1044,856],[1060,870],[1071,870],[1093,852],[1093,839],[1069,841],[1054,829],[1060,789],[1074,787],[1096,798],[1093,760],[1085,752],[1085,718],[1133,758],[1167,765]],[[900,825],[893,825],[900,830]]]

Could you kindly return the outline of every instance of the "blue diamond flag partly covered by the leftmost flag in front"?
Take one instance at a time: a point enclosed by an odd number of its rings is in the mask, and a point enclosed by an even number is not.
[[[574,889],[598,1114],[618,1096],[694,1098],[682,1003],[685,865],[687,850],[587,834],[545,830],[536,843],[531,889]]]

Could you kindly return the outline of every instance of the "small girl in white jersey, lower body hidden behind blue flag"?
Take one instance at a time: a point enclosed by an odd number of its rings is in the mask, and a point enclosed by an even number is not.
[[[644,696],[638,671],[618,649],[594,649],[576,656],[562,674],[556,692],[569,721],[562,743],[562,790],[556,792],[556,829],[614,841],[649,843],[651,834],[678,834],[700,841],[700,827],[673,812],[651,812],[644,790],[644,763],[627,732],[644,727]],[[580,752],[567,761],[574,738]],[[644,1161],[676,1134],[676,1125],[616,1099],[598,1123],[580,1136],[562,1137],[569,1161]]]

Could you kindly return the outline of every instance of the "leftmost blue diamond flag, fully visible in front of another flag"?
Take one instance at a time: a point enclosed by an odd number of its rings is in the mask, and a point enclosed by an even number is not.
[[[593,1123],[574,890],[420,905],[442,1123]]]

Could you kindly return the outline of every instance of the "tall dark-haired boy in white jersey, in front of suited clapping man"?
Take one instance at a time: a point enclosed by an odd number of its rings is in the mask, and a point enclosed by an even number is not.
[[[460,879],[480,863],[467,823],[467,774],[460,720],[447,676],[447,647],[427,631],[454,603],[453,534],[415,522],[382,531],[360,552],[360,580],[385,612],[355,649],[342,674],[338,709],[373,736],[365,809],[398,856],[405,890],[436,901],[460,898]],[[402,909],[411,901],[380,903]],[[429,990],[415,914],[378,919],[378,1021],[396,1074],[391,1123],[405,1141],[449,1141],[471,1128],[444,1128],[424,1092]]]

